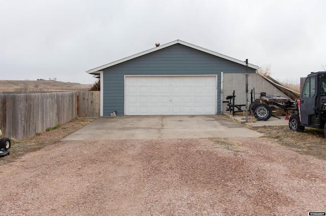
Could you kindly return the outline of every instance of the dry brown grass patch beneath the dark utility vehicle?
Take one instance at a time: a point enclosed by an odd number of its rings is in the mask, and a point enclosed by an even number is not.
[[[263,133],[263,139],[326,160],[326,139],[321,129],[306,127],[304,132],[292,131],[288,126],[263,126],[253,129]]]

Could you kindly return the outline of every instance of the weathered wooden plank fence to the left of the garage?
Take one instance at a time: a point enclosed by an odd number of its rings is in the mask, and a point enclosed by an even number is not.
[[[0,94],[0,128],[19,141],[80,116],[77,107],[84,117],[99,117],[99,92]]]

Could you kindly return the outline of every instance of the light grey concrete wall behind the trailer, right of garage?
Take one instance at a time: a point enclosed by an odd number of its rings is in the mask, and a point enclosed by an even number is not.
[[[266,92],[268,95],[288,97],[283,92],[267,82],[259,74],[250,73],[248,75],[248,100],[250,102],[251,90],[255,88],[255,98],[259,98],[260,92]],[[223,101],[228,95],[235,91],[235,104],[246,103],[246,74],[243,73],[224,73],[223,74]],[[243,110],[245,107],[243,107]],[[223,113],[226,112],[226,103],[223,103]]]

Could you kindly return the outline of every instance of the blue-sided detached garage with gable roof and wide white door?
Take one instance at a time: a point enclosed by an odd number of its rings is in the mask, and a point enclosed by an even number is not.
[[[244,61],[176,40],[87,73],[100,78],[100,116],[221,115],[233,90],[243,103],[243,77],[246,71],[254,77],[258,66],[246,68]]]

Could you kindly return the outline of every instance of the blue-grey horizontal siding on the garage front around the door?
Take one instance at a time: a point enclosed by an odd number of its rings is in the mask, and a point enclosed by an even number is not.
[[[218,75],[218,114],[221,114],[221,72],[245,73],[246,67],[175,44],[103,69],[103,116],[124,115],[124,75]],[[249,73],[256,71],[249,68]]]

